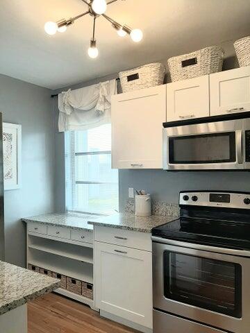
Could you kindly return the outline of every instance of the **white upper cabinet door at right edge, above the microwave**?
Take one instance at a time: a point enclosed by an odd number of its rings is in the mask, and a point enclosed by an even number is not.
[[[244,111],[250,111],[250,67],[211,74],[211,116]]]

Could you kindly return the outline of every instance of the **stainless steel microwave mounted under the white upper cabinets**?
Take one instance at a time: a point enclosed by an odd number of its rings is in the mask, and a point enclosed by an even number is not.
[[[249,112],[163,126],[165,170],[250,169]]]

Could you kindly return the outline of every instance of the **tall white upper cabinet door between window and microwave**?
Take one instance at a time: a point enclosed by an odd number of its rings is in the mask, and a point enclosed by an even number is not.
[[[163,169],[165,121],[166,85],[113,96],[112,167]]]

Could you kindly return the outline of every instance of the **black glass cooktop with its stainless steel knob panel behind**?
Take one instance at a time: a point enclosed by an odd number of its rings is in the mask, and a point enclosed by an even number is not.
[[[250,193],[180,193],[180,218],[152,230],[152,236],[195,244],[250,250]]]

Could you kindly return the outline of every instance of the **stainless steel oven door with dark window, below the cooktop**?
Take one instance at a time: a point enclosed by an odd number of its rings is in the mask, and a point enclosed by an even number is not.
[[[192,248],[153,241],[153,308],[229,332],[249,333],[250,257],[188,246]]]

